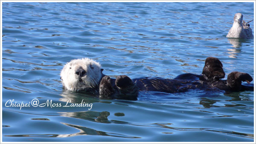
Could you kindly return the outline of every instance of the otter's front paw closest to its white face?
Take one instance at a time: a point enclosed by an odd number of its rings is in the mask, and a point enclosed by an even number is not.
[[[102,97],[104,96],[111,96],[115,93],[115,90],[111,86],[111,79],[108,75],[105,75],[99,84],[99,95]]]

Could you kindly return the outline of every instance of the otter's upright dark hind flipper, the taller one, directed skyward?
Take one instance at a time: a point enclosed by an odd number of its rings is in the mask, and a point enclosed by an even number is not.
[[[225,72],[222,69],[222,63],[218,58],[208,57],[205,60],[204,69],[202,72],[203,80],[215,81],[225,77]]]

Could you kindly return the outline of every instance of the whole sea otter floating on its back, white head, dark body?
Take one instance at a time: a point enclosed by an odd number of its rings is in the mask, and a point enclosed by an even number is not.
[[[201,75],[191,73],[178,75],[174,79],[135,78],[119,75],[116,79],[102,74],[103,69],[94,60],[83,58],[71,60],[61,71],[62,84],[71,91],[85,91],[100,98],[117,98],[136,100],[139,91],[185,92],[189,89],[221,89],[225,91],[253,91],[253,86],[241,85],[242,81],[250,83],[253,78],[243,72],[231,72],[227,80],[222,63],[218,58],[205,60]]]

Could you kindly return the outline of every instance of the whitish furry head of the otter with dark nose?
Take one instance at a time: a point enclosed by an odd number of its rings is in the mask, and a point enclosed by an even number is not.
[[[89,58],[71,60],[61,70],[62,84],[71,91],[95,88],[101,78],[101,65]]]

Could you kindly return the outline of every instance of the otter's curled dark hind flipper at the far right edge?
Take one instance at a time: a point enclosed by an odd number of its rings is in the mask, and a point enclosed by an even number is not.
[[[253,78],[244,72],[231,72],[227,76],[227,86],[236,91],[241,90],[242,81],[246,81],[248,84],[250,84],[250,82],[253,81]]]

